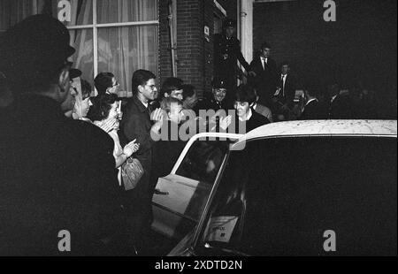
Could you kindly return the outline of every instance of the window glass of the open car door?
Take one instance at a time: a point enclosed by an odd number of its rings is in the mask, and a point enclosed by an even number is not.
[[[227,148],[226,141],[195,141],[176,174],[212,185]]]

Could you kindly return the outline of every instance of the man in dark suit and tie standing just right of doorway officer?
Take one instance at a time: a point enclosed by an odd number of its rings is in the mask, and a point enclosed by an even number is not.
[[[249,84],[256,88],[260,96],[259,103],[267,107],[272,106],[272,95],[277,87],[278,70],[275,61],[271,56],[271,45],[264,42],[261,45],[260,55],[250,63],[251,71],[256,76],[249,78]]]

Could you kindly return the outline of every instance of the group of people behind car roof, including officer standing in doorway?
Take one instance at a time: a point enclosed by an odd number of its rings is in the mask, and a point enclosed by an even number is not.
[[[379,118],[378,97],[359,80],[344,86],[339,80],[303,80],[288,61],[272,58],[272,46],[263,42],[255,57],[246,62],[240,42],[233,34],[236,23],[226,19],[214,44],[214,75],[224,81],[226,102],[233,105],[237,79],[249,84],[258,95],[255,106],[270,122],[296,119]],[[241,72],[238,63],[246,70]],[[240,73],[237,73],[240,72]],[[264,112],[263,112],[264,113]]]

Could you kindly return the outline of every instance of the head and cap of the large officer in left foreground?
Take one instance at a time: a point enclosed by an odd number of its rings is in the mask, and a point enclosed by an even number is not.
[[[37,87],[67,65],[75,51],[69,42],[60,21],[45,14],[30,16],[2,35],[0,71],[19,88]]]

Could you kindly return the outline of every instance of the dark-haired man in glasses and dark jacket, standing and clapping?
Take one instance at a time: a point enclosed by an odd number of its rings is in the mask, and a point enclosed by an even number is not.
[[[136,140],[140,149],[135,153],[144,169],[142,179],[126,193],[129,234],[135,247],[144,247],[144,237],[150,230],[152,193],[149,186],[155,140],[151,132],[158,133],[162,126],[162,110],[151,110],[150,101],[157,96],[156,76],[146,70],[135,71],[132,78],[133,98],[127,103],[121,121],[126,142]],[[153,121],[156,121],[154,123]],[[123,138],[122,138],[123,140]]]

